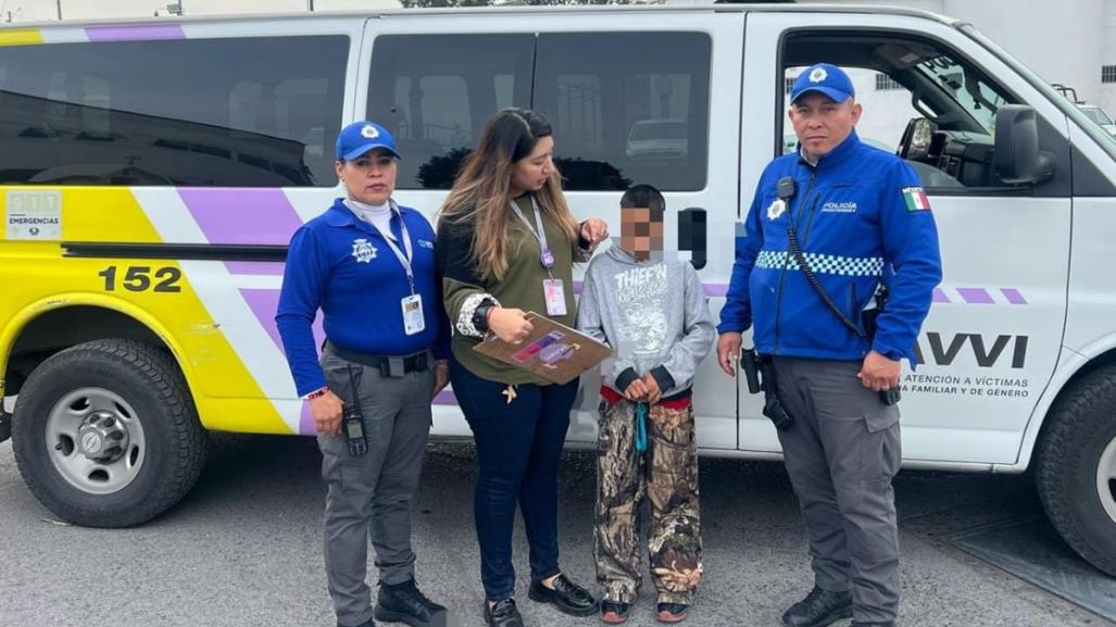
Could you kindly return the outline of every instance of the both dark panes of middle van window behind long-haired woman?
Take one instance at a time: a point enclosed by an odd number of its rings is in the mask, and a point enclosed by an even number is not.
[[[385,35],[368,117],[395,134],[398,186],[448,190],[497,109],[542,113],[567,190],[705,186],[704,32]]]

